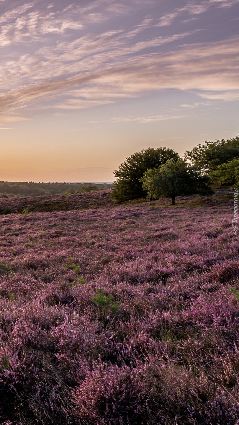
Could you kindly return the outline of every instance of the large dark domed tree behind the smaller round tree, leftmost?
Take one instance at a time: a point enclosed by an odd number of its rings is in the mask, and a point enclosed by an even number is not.
[[[158,168],[165,164],[168,159],[177,161],[178,153],[166,147],[144,149],[135,152],[119,165],[119,170],[114,171],[117,180],[114,182],[112,196],[118,202],[128,201],[134,198],[146,198],[147,192],[142,189],[139,180],[149,168]]]

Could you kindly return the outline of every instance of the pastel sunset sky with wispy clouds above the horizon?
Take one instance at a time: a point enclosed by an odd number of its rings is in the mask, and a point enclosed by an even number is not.
[[[239,0],[0,0],[0,181],[239,132]]]

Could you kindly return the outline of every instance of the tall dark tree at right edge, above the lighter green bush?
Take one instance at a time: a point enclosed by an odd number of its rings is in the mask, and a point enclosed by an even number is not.
[[[197,144],[191,151],[187,150],[185,159],[189,160],[198,170],[211,172],[219,165],[239,158],[239,136],[228,140],[216,140],[215,142],[203,142]]]

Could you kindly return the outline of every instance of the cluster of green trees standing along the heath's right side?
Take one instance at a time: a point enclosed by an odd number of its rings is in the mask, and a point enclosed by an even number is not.
[[[239,186],[239,136],[199,143],[183,159],[173,149],[149,147],[126,158],[114,176],[118,202],[168,197],[175,205],[179,195],[211,195],[212,183]]]

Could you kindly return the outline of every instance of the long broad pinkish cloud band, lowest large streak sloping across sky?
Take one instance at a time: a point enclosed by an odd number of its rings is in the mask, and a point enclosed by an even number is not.
[[[2,93],[0,111],[6,113],[43,98],[48,99],[43,108],[89,108],[165,88],[198,89],[207,99],[237,98],[238,53],[239,38],[234,38],[211,45],[186,45],[177,52],[126,57],[100,71],[46,79]],[[57,96],[63,94],[65,100],[57,102]]]

